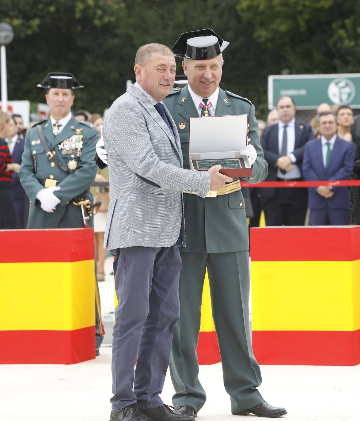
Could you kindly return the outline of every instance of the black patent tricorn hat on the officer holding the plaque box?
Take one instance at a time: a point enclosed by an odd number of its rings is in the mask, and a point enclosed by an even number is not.
[[[212,29],[184,32],[174,44],[175,57],[192,60],[207,60],[219,56],[229,45]]]

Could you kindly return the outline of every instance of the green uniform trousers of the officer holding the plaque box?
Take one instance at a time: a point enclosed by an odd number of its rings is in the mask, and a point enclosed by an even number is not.
[[[180,320],[174,328],[170,374],[176,393],[173,405],[198,412],[206,394],[198,379],[196,347],[205,269],[208,268],[211,308],[219,341],[224,386],[233,413],[264,399],[256,389],[261,373],[251,346],[249,326],[249,253],[181,253]]]

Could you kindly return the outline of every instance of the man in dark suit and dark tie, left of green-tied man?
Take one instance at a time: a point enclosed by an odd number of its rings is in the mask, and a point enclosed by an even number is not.
[[[261,146],[269,165],[265,181],[301,180],[305,143],[312,139],[311,127],[295,120],[296,107],[290,96],[277,100],[279,121],[264,128]],[[261,196],[267,225],[304,225],[307,190],[299,188],[263,188]]]

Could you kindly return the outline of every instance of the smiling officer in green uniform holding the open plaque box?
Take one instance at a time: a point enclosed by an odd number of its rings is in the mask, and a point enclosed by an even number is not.
[[[219,87],[224,63],[221,53],[228,45],[212,29],[182,34],[172,51],[184,60],[182,67],[188,85],[182,89],[174,88],[163,102],[178,128],[186,169],[190,168],[190,117],[247,114],[250,141],[241,153],[249,158],[252,176],[243,180],[259,183],[267,176],[267,162],[260,146],[255,107],[248,99]],[[104,168],[107,153],[102,139],[96,152],[96,163]],[[239,179],[222,187],[216,197],[209,195],[205,200],[192,192],[184,192],[184,212],[186,247],[180,249],[180,319],[174,328],[170,360],[171,379],[176,391],[173,396],[175,413],[196,416],[206,400],[197,377],[196,347],[207,268],[213,320],[231,412],[269,418],[285,415],[284,408],[269,405],[256,389],[261,384],[261,373],[251,346],[248,225]]]

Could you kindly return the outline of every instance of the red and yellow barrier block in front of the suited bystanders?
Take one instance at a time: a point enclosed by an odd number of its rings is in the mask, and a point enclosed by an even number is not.
[[[251,228],[260,364],[360,363],[360,226]]]

